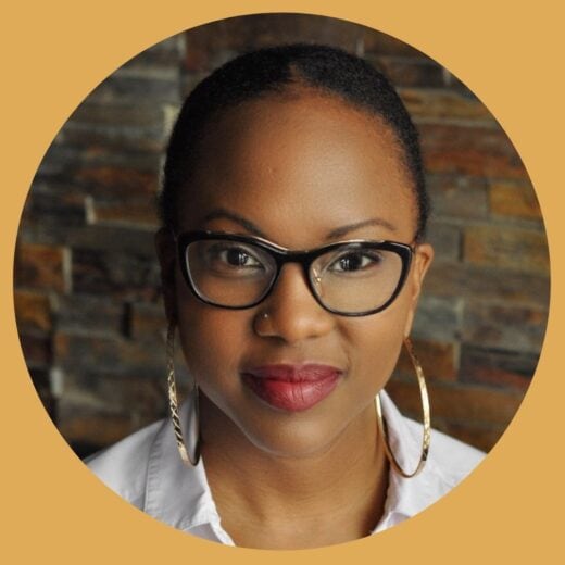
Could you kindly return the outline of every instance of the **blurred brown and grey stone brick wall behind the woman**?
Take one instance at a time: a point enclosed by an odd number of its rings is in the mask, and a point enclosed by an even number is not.
[[[545,328],[549,259],[504,131],[456,77],[388,36],[324,17],[250,16],[123,65],[72,114],[34,180],[15,256],[18,331],[39,397],[80,455],[166,414],[154,199],[184,97],[241,51],[296,40],[343,47],[382,70],[422,134],[437,258],[414,340],[435,427],[488,450],[519,406]],[[388,389],[419,417],[404,356]]]

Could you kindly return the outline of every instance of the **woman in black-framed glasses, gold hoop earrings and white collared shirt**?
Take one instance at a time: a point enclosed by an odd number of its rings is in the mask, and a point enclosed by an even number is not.
[[[161,206],[173,417],[89,461],[106,485],[194,536],[301,549],[398,524],[479,462],[437,431],[427,453],[409,336],[428,201],[416,130],[373,67],[304,45],[227,63],[180,112]],[[384,392],[403,343],[424,425]]]

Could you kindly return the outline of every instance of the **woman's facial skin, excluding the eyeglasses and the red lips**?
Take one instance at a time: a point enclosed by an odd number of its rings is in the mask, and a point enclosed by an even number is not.
[[[179,231],[260,233],[291,250],[347,239],[414,242],[415,198],[392,131],[336,98],[273,95],[231,109],[208,127],[198,163],[179,202]],[[190,374],[233,430],[285,456],[328,449],[355,418],[374,411],[432,256],[429,246],[417,248],[403,290],[387,310],[346,317],[316,302],[294,263],[282,267],[258,306],[206,305],[178,264],[167,275],[175,260],[164,247],[167,311],[177,319]],[[314,405],[286,410],[265,401],[244,377],[280,364],[325,365],[339,374]]]

